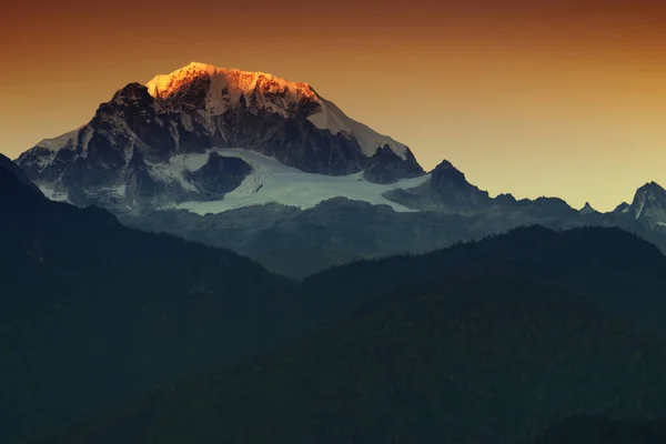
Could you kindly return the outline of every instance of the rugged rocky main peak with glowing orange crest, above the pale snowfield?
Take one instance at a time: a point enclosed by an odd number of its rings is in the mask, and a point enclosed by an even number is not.
[[[17,163],[51,198],[134,209],[223,199],[252,170],[205,158],[230,148],[307,173],[371,170],[370,182],[424,174],[407,147],[352,120],[306,83],[194,62],[125,85],[88,124],[41,141]],[[204,160],[188,163],[188,154]],[[226,167],[229,183],[211,190],[219,180],[210,174]]]

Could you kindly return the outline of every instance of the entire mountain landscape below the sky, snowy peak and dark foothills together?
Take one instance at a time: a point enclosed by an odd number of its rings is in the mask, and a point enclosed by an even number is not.
[[[666,190],[491,196],[191,63],[0,155],[0,442],[666,442]]]

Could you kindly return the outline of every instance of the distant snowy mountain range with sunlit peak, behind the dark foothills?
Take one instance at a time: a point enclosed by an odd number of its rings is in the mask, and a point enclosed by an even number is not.
[[[406,145],[306,83],[203,63],[128,84],[16,164],[50,199],[292,278],[528,224],[619,226],[666,251],[666,191],[655,182],[604,214],[557,198],[491,198],[448,161],[425,173]]]

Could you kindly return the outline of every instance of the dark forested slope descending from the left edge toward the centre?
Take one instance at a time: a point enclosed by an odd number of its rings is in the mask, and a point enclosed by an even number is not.
[[[235,253],[51,202],[2,165],[11,162],[0,157],[0,442],[60,430],[290,334],[290,282]]]

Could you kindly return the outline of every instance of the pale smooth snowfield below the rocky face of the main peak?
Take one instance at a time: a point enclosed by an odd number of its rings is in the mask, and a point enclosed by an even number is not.
[[[426,174],[420,178],[404,179],[396,183],[377,184],[363,179],[363,172],[343,176],[312,174],[286,167],[268,155],[243,149],[213,149],[203,154],[176,155],[170,160],[169,164],[152,165],[151,174],[157,175],[160,180],[183,182],[185,181],[184,171],[195,171],[203,167],[212,151],[223,157],[244,160],[252,167],[252,173],[223,200],[181,202],[163,208],[164,210],[188,210],[203,215],[265,203],[281,203],[305,210],[327,199],[341,196],[375,205],[391,205],[395,211],[407,212],[414,210],[391,202],[382,194],[390,190],[418,186],[430,176]]]

